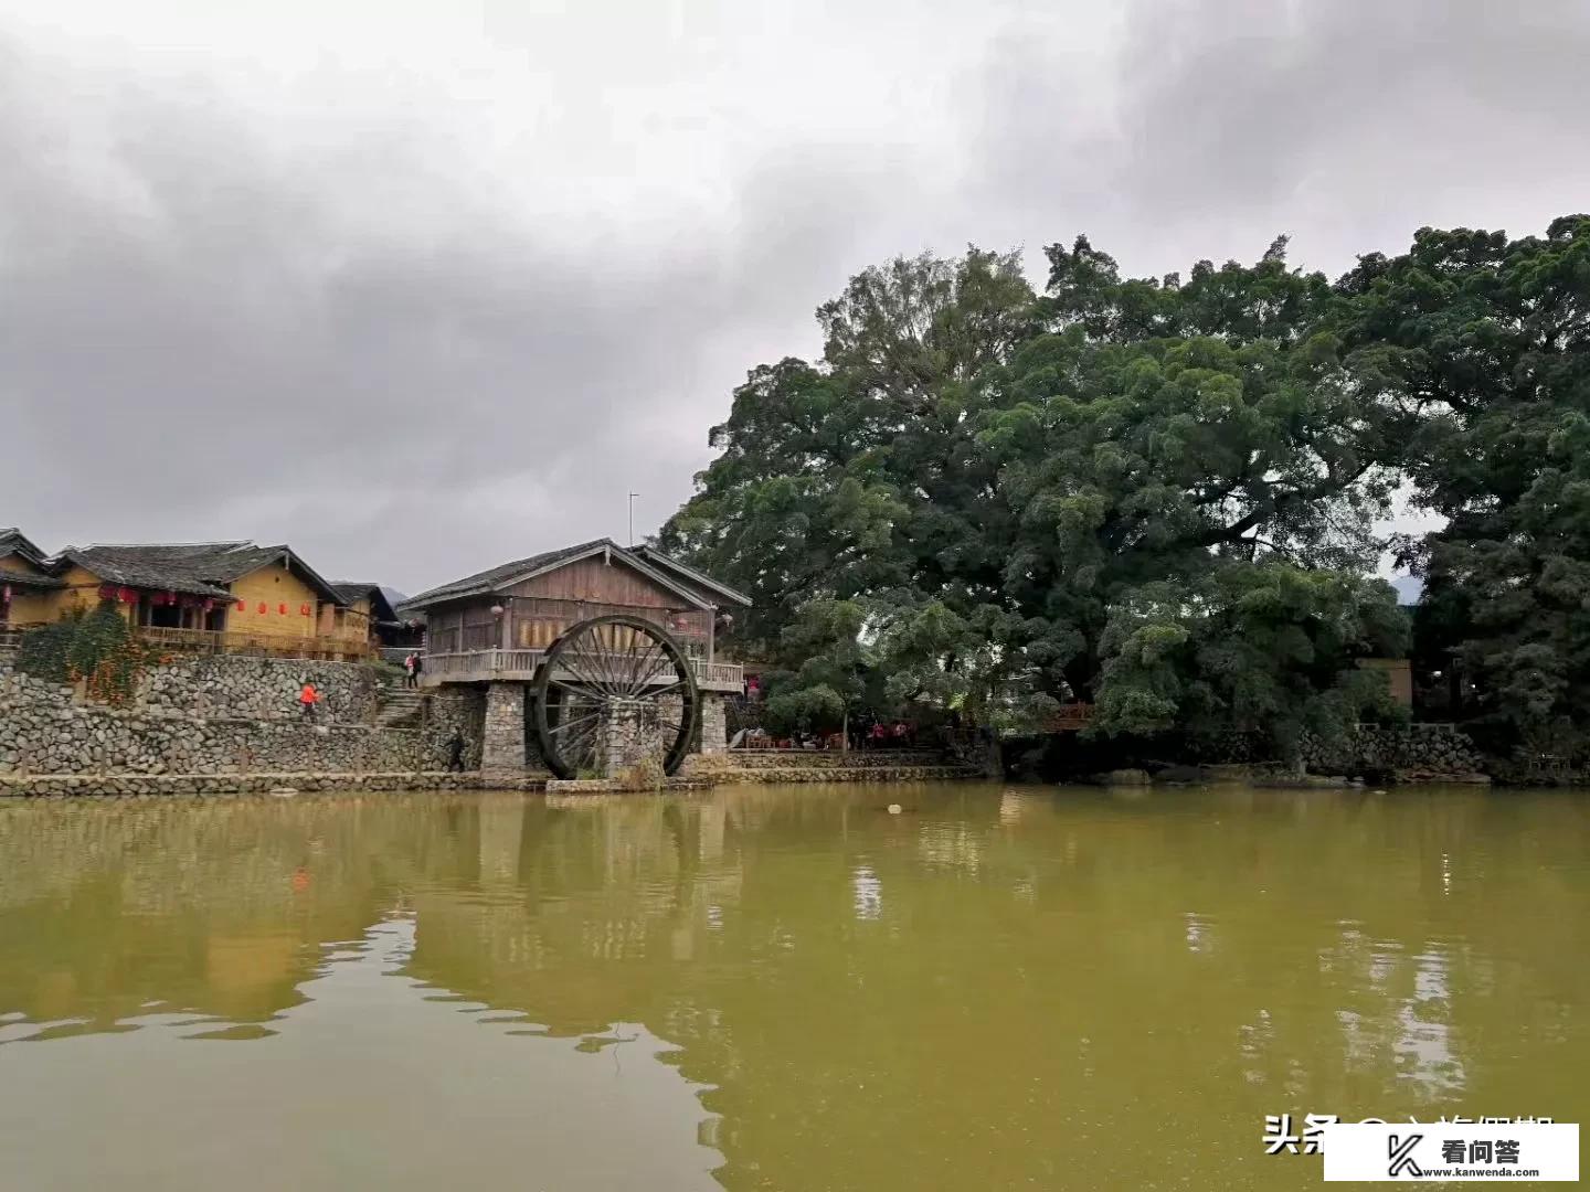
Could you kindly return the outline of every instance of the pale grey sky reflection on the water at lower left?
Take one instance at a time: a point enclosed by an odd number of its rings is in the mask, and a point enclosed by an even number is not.
[[[639,1024],[552,1039],[428,995],[402,976],[415,927],[388,919],[339,946],[270,1030],[156,1012],[8,1047],[6,1186],[716,1187],[701,1143],[716,1127],[669,1044]],[[37,1027],[13,1038],[52,1038]]]

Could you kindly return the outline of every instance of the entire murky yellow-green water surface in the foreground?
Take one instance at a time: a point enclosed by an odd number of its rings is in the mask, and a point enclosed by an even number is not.
[[[1566,793],[0,806],[0,1186],[1313,1187],[1585,1119],[1587,942]]]

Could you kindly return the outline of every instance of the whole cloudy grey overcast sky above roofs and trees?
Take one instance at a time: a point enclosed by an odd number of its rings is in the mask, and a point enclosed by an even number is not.
[[[0,524],[407,591],[646,534],[859,269],[1538,232],[1585,62],[1571,0],[0,0]]]

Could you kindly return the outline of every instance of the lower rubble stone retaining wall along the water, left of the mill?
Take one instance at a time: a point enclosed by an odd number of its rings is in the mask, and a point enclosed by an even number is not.
[[[68,687],[5,672],[0,776],[436,771],[447,764],[455,726],[479,752],[472,718],[463,698],[437,699],[425,730],[113,709],[78,704]]]

